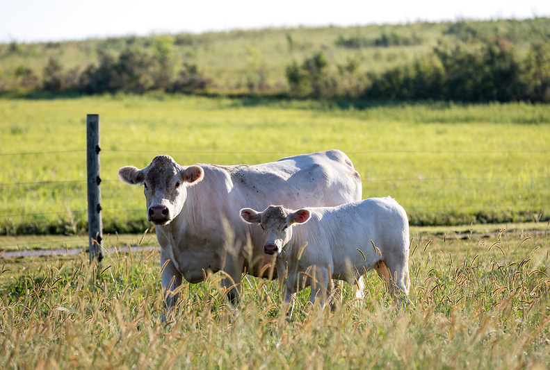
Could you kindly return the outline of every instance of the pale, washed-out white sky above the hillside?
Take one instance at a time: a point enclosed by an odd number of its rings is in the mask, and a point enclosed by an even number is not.
[[[550,0],[0,0],[0,42],[550,17]]]

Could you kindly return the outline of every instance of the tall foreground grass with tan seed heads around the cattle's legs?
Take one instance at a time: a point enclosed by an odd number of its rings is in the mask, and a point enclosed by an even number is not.
[[[396,310],[372,271],[366,298],[286,320],[276,283],[243,280],[227,306],[219,274],[184,283],[161,321],[158,252],[4,260],[0,366],[542,369],[550,362],[548,233],[464,239],[412,233],[412,289]]]

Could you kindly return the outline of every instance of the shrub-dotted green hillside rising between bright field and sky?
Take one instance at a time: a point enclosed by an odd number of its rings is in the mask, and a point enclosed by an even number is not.
[[[413,80],[425,79],[425,74],[438,75],[448,55],[479,57],[479,62],[487,65],[485,54],[496,48],[499,49],[496,56],[501,59],[495,63],[501,65],[502,60],[511,60],[511,66],[504,66],[507,71],[518,65],[521,69],[518,74],[522,75],[511,78],[526,87],[522,85],[518,90],[522,96],[514,93],[507,99],[499,99],[489,94],[477,100],[544,100],[532,98],[534,94],[523,96],[523,92],[549,83],[549,72],[544,72],[550,69],[544,67],[544,63],[550,63],[548,47],[542,51],[540,47],[548,45],[549,40],[550,19],[536,18],[349,28],[268,28],[37,44],[11,42],[0,44],[0,92],[95,94],[165,90],[329,98],[375,94],[390,99],[415,99],[424,96],[408,96],[410,88],[401,86],[403,78],[396,81],[394,74]],[[452,62],[461,65],[462,61]],[[531,70],[537,62],[540,73],[538,69]],[[429,70],[425,70],[426,65]],[[392,75],[385,75],[388,72]],[[448,70],[442,73],[456,74]],[[533,75],[537,75],[536,81],[527,81],[531,77],[526,76]],[[490,76],[490,79],[498,78]],[[380,92],[388,83],[400,92],[387,94],[388,87]],[[407,91],[408,95],[401,93]],[[443,90],[441,95],[444,96]],[[458,100],[476,101],[464,96],[464,99],[458,96]]]

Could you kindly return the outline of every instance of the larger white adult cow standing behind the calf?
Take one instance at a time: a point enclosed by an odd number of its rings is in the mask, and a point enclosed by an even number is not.
[[[159,155],[144,169],[122,167],[118,176],[145,187],[148,219],[155,224],[165,265],[164,292],[173,292],[182,278],[199,283],[223,270],[222,285],[231,288],[227,294],[234,303],[243,271],[267,277],[270,262],[261,231],[238,217],[241,208],[264,209],[273,202],[293,208],[338,205],[362,194],[361,177],[338,150],[250,166],[180,166]]]

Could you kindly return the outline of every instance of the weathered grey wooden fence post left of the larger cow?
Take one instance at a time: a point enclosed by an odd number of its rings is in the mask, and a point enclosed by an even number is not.
[[[88,141],[88,235],[90,239],[90,263],[103,259],[102,206],[99,183],[99,115],[86,116],[86,137]]]

